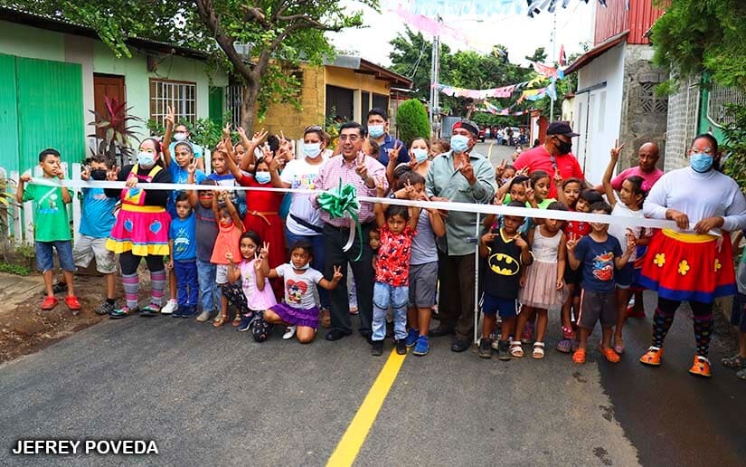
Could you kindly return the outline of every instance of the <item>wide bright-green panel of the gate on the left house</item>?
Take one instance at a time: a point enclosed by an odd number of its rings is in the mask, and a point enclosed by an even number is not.
[[[15,57],[20,171],[44,148],[68,167],[86,157],[82,68],[78,63]],[[70,174],[68,174],[70,176]]]

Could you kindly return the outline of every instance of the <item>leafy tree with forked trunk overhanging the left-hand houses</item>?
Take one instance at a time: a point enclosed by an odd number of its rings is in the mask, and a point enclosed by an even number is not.
[[[356,0],[378,8],[378,0]],[[146,37],[212,52],[212,63],[244,85],[243,127],[253,128],[273,102],[299,107],[301,61],[320,65],[335,52],[324,35],[363,24],[335,0],[0,0],[26,11],[90,26],[118,56],[129,56],[127,39]],[[248,47],[248,55],[238,45]],[[243,49],[243,47],[241,47]]]

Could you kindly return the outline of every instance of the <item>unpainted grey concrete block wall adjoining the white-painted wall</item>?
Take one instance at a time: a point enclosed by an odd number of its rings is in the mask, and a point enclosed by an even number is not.
[[[626,47],[619,141],[627,146],[619,157],[620,169],[636,166],[637,148],[648,141],[656,142],[661,156],[665,154],[668,115],[668,98],[655,93],[656,85],[668,78],[668,71],[653,66],[651,46]],[[659,166],[663,167],[663,160],[659,160]]]

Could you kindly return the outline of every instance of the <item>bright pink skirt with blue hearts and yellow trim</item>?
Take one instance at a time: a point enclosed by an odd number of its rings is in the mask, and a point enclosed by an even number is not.
[[[163,206],[122,205],[111,228],[106,248],[135,256],[168,255],[168,226],[171,216]]]

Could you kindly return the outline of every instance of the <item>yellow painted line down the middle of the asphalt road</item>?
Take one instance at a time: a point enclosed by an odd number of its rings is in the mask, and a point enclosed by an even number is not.
[[[401,365],[404,363],[406,355],[399,355],[392,350],[386,364],[381,368],[381,372],[375,378],[368,395],[365,396],[363,404],[357,409],[353,421],[347,426],[345,434],[336,445],[335,452],[326,462],[328,466],[352,465],[360,448],[363,447],[365,438],[371,431],[373,422],[378,412],[381,410],[383,401],[391,390],[393,381],[399,374]]]

